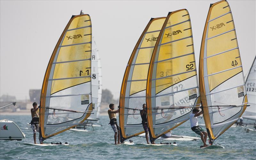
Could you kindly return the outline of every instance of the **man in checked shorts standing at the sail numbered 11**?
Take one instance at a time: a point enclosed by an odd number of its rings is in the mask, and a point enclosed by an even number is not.
[[[34,143],[36,144],[36,132],[39,132],[39,107],[37,107],[37,103],[33,103],[33,108],[31,108],[31,116],[32,120],[30,122],[31,128],[33,130],[33,138],[34,138]],[[40,142],[43,144],[42,142]]]

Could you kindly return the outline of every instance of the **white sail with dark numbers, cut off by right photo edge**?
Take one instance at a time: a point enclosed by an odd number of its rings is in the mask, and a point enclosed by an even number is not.
[[[256,120],[256,56],[252,63],[252,67],[249,71],[248,77],[245,82],[248,104],[250,107],[247,107],[242,115],[243,118]]]

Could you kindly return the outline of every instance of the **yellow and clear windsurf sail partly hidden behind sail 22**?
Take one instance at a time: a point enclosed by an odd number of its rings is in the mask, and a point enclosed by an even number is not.
[[[120,92],[121,142],[144,133],[139,110],[146,103],[149,61],[164,20],[165,17],[150,19],[126,67]]]

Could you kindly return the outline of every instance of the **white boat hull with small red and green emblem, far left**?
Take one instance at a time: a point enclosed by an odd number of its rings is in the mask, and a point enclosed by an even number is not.
[[[25,134],[21,132],[20,128],[12,121],[0,120],[0,139],[2,140],[18,140],[25,138]]]

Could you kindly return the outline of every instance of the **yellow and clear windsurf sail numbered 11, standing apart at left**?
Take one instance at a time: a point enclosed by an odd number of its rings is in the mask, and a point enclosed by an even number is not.
[[[54,48],[40,97],[40,141],[84,122],[92,112],[92,24],[72,16]]]

